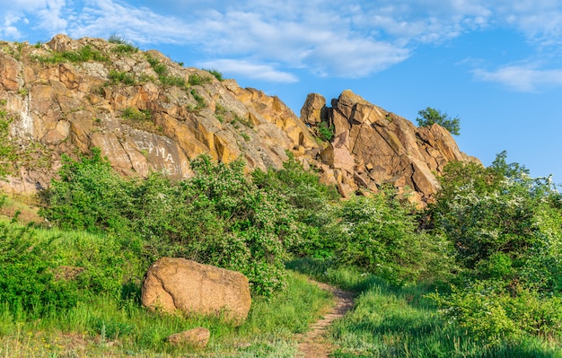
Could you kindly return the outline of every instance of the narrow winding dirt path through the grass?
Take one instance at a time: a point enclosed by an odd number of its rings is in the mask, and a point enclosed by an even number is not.
[[[339,290],[328,284],[314,282],[322,290],[334,293],[336,304],[321,319],[311,325],[311,330],[301,336],[299,351],[303,358],[328,358],[335,348],[324,338],[328,327],[335,319],[343,317],[348,310],[353,308],[353,293]]]

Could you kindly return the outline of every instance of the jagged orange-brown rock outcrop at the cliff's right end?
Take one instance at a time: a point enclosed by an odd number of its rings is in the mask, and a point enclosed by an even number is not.
[[[426,203],[439,188],[435,176],[443,173],[448,162],[479,162],[462,153],[443,127],[418,128],[351,91],[342,92],[331,104],[325,111],[334,137],[321,152],[322,180],[337,184],[342,196],[391,183],[410,188],[413,200]],[[301,111],[303,120],[317,123],[322,107],[326,107],[323,98],[309,95]]]

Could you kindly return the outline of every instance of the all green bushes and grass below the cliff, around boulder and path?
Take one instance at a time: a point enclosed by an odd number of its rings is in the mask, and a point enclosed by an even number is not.
[[[505,153],[449,164],[424,211],[394,188],[339,201],[290,155],[250,174],[205,155],[190,166],[189,179],[123,178],[94,149],[64,159],[44,223],[4,216],[0,354],[294,356],[294,333],[329,300],[296,270],[359,294],[333,327],[338,357],[560,356],[561,198]],[[143,310],[162,256],[247,275],[249,321]],[[204,352],[163,341],[197,325],[212,331]]]

